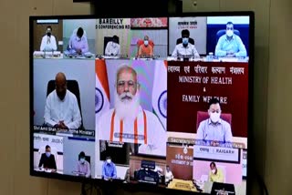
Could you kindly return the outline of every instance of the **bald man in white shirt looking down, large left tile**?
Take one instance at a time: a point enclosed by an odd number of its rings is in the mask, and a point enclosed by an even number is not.
[[[54,128],[79,128],[81,115],[77,97],[67,89],[64,73],[57,73],[56,89],[47,96],[45,123]]]

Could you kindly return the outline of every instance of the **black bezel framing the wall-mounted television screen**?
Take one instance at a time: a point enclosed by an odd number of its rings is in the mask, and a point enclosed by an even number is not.
[[[126,12],[125,12],[126,13]],[[183,190],[173,190],[173,189],[166,189],[166,188],[159,188],[154,185],[148,185],[148,184],[135,184],[132,185],[131,183],[120,183],[115,181],[104,181],[104,180],[98,180],[98,179],[82,179],[70,175],[61,175],[56,173],[45,173],[45,172],[38,172],[34,170],[34,144],[33,144],[33,134],[34,134],[34,128],[33,128],[33,122],[34,122],[34,96],[33,96],[33,30],[34,30],[34,20],[36,19],[98,19],[98,18],[131,18],[131,17],[168,17],[168,25],[169,25],[169,17],[183,17],[183,16],[240,16],[240,15],[246,15],[250,17],[250,23],[249,23],[249,62],[248,62],[248,118],[247,118],[247,145],[248,145],[248,153],[253,151],[253,96],[254,96],[254,60],[255,60],[255,13],[253,11],[228,11],[228,12],[197,12],[197,13],[183,13],[183,14],[168,14],[168,15],[150,15],[150,14],[131,14],[131,15],[120,15],[120,14],[114,14],[111,13],[110,15],[100,15],[97,13],[96,15],[34,15],[29,16],[29,121],[30,121],[30,175],[36,176],[36,177],[42,177],[47,179],[57,179],[57,180],[68,180],[68,181],[76,181],[76,182],[94,182],[95,184],[98,184],[99,186],[107,188],[112,188],[112,184],[114,187],[120,187],[124,190],[130,190],[130,191],[148,191],[148,192],[162,192],[165,194],[206,194],[201,192],[191,192],[191,191],[183,191]],[[169,31],[168,31],[168,38],[169,38]],[[168,40],[167,38],[167,40]],[[169,40],[168,40],[169,42]],[[168,49],[169,54],[169,49]],[[252,165],[251,163],[255,162],[253,157],[254,155],[248,155],[247,158],[247,175],[246,175],[246,194],[251,193],[251,182],[252,182],[252,167],[255,165]]]

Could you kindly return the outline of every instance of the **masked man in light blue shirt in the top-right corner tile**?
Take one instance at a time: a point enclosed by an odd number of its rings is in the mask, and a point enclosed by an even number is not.
[[[227,23],[226,34],[218,39],[215,56],[247,56],[243,41],[234,34],[234,24],[232,22]]]

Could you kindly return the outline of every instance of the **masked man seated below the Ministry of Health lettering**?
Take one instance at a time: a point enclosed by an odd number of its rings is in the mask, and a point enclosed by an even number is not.
[[[210,99],[208,114],[210,118],[200,123],[196,139],[210,140],[213,142],[214,146],[217,146],[219,142],[231,143],[231,127],[228,122],[220,118],[221,108],[217,98]]]

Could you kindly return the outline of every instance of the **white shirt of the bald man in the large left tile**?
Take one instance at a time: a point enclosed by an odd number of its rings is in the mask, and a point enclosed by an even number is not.
[[[45,122],[49,126],[55,126],[63,120],[68,128],[79,128],[81,115],[77,98],[69,90],[63,100],[57,97],[56,89],[47,96],[45,107]]]

